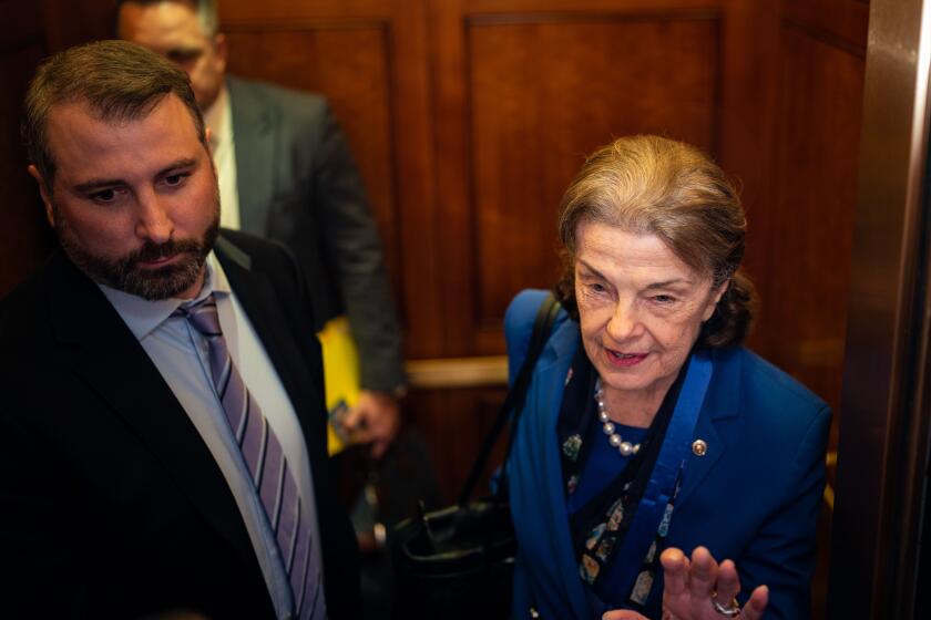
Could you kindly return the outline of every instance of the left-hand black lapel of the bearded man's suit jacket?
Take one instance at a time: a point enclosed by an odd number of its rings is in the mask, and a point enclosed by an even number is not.
[[[63,362],[134,431],[204,519],[255,561],[219,467],[158,370],[100,289],[63,256],[53,260],[61,269],[51,316]]]

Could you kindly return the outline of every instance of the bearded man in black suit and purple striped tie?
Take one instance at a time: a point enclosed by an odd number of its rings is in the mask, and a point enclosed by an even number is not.
[[[306,281],[219,231],[187,76],[66,50],[23,137],[62,249],[0,301],[2,614],[357,618]]]

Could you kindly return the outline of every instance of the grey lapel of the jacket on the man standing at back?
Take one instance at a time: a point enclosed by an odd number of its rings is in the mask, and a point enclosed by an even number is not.
[[[275,195],[275,142],[278,118],[259,101],[254,89],[235,78],[226,79],[236,145],[236,189],[242,229],[267,231],[268,209]]]

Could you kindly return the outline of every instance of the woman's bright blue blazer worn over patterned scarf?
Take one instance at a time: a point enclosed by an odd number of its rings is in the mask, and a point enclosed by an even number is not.
[[[545,291],[508,308],[504,332],[513,381]],[[519,542],[514,618],[601,618],[579,577],[562,487],[556,418],[579,323],[563,311],[536,363],[507,474]],[[825,488],[830,410],[770,363],[740,348],[714,350],[712,381],[695,427],[704,456],[689,455],[666,542],[686,554],[704,545],[737,564],[741,602],[769,587],[766,618],[809,614],[815,531]],[[647,612],[661,613],[663,580]]]

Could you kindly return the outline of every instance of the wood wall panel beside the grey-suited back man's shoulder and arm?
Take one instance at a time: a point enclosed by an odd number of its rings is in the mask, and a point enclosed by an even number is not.
[[[372,200],[407,354],[442,356],[426,7],[227,1],[222,22],[231,71],[329,99]]]

